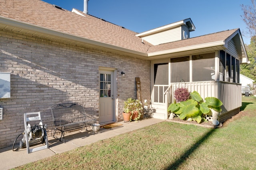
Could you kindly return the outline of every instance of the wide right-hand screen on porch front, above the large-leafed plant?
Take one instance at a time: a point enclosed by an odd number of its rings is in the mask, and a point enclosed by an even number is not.
[[[192,55],[192,82],[215,80],[215,53]]]

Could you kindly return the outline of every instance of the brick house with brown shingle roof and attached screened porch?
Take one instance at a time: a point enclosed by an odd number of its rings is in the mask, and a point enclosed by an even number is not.
[[[67,101],[100,124],[122,121],[123,102],[137,98],[136,77],[156,118],[167,119],[177,86],[219,98],[215,118],[230,118],[242,104],[239,70],[248,62],[240,29],[190,38],[194,30],[188,18],[136,33],[41,0],[0,1],[0,72],[10,74],[0,148],[24,131],[24,113],[40,111],[50,133],[50,107]]]

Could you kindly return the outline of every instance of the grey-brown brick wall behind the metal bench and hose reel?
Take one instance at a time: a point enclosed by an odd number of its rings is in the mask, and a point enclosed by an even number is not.
[[[0,29],[0,72],[11,73],[11,98],[0,99],[0,148],[24,131],[24,113],[40,111],[48,130],[54,104],[80,102],[98,115],[99,66],[117,69],[117,121],[124,100],[136,98],[135,77],[142,99],[150,99],[150,61]]]

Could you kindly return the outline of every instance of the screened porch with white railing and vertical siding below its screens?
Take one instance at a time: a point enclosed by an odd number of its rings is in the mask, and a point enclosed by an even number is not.
[[[178,87],[185,87],[190,92],[197,91],[203,99],[220,99],[223,106],[222,112],[217,113],[218,120],[224,122],[238,113],[242,105],[239,70],[240,61],[225,51],[177,57],[170,59],[168,63],[155,63],[152,104],[166,109],[167,119],[167,107],[174,102],[174,91]]]

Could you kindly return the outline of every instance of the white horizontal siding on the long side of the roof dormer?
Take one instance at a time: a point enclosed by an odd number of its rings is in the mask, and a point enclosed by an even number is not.
[[[181,27],[177,27],[177,28],[170,29],[167,31],[162,31],[160,33],[156,33],[153,35],[148,35],[142,38],[153,45],[159,45],[163,43],[170,43],[173,41],[181,40],[181,37],[182,37]]]

